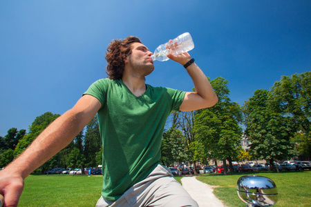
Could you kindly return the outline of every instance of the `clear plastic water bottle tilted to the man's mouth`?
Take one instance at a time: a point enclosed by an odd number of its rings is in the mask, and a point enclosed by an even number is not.
[[[172,43],[164,43],[153,52],[151,58],[153,61],[167,61],[169,58],[167,54],[171,53],[173,55],[179,55],[182,52],[188,52],[194,49],[194,41],[192,41],[192,37],[189,32],[185,32],[184,34],[180,34],[178,37],[173,39]]]

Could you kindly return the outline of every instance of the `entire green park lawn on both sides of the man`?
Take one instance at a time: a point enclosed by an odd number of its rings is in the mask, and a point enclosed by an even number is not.
[[[277,206],[310,206],[311,170],[303,172],[253,172],[235,175],[201,175],[197,179],[214,188],[214,194],[227,206],[245,206],[236,193],[236,181],[243,175],[269,177],[279,193]],[[176,177],[178,181],[182,177]],[[95,206],[102,191],[102,177],[87,175],[30,175],[19,206]]]

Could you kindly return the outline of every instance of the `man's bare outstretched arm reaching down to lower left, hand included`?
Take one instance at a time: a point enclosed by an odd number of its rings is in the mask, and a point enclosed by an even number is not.
[[[41,132],[15,161],[0,171],[0,194],[4,195],[6,206],[17,206],[23,179],[73,141],[100,107],[98,99],[84,95],[73,108]]]

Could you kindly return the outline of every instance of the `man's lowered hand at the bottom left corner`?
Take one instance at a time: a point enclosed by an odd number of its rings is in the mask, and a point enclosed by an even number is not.
[[[10,172],[0,174],[0,194],[4,196],[4,206],[17,206],[23,191],[23,178],[10,175]]]

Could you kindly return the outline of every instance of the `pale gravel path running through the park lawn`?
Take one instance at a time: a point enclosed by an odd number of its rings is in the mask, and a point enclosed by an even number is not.
[[[187,190],[200,207],[225,207],[223,202],[214,195],[212,186],[198,181],[195,176],[182,177],[181,182],[182,187]]]

